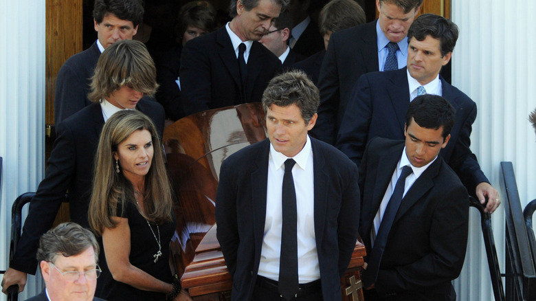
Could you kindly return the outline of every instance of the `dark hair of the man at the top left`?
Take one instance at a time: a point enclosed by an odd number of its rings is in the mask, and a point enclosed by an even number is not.
[[[114,14],[121,20],[131,21],[136,27],[143,21],[144,7],[141,0],[95,0],[93,19],[97,24],[109,14]]]

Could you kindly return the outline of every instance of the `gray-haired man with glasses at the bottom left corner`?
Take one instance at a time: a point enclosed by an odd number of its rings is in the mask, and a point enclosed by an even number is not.
[[[100,276],[98,254],[93,233],[77,223],[49,230],[37,250],[46,289],[27,301],[102,300],[93,297]]]

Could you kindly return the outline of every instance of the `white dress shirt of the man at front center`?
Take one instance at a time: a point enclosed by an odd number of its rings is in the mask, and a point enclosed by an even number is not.
[[[266,195],[266,220],[258,275],[279,280],[282,227],[282,184],[284,161],[289,159],[270,144]],[[292,159],[296,206],[298,208],[298,279],[308,283],[320,279],[315,242],[313,150],[307,136],[304,148]]]

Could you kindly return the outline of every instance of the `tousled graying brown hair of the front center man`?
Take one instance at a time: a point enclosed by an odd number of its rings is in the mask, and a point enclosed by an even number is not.
[[[293,70],[272,78],[263,93],[263,109],[275,104],[287,107],[295,104],[300,108],[305,123],[309,123],[320,104],[318,88],[309,77],[300,70]]]

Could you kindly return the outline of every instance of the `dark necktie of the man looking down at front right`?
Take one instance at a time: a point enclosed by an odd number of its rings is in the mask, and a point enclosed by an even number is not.
[[[402,173],[397,181],[397,185],[394,186],[391,198],[389,199],[389,203],[386,207],[386,212],[383,213],[383,218],[381,219],[378,234],[374,241],[374,247],[372,247],[372,252],[370,252],[370,256],[368,256],[367,269],[363,273],[364,288],[368,288],[370,287],[370,285],[376,282],[381,262],[381,256],[383,256],[383,250],[386,248],[387,237],[391,230],[392,222],[394,221],[394,216],[397,216],[400,203],[402,202],[405,178],[408,175],[411,175],[412,172],[413,170],[410,166],[404,166],[402,168]]]

